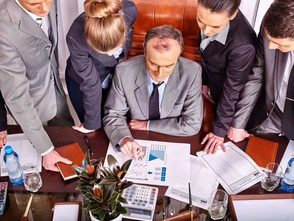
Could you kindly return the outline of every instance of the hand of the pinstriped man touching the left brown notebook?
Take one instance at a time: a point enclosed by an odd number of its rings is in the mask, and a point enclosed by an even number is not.
[[[69,159],[66,159],[59,155],[55,150],[52,150],[50,153],[46,154],[43,157],[43,166],[45,169],[52,171],[59,171],[58,167],[55,165],[57,162],[62,162],[65,164],[72,164],[73,162]]]

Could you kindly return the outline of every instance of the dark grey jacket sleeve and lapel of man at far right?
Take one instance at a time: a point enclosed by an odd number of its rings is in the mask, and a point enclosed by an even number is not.
[[[253,130],[270,116],[277,100],[289,53],[270,50],[261,26],[252,70],[236,105],[233,128]],[[247,125],[247,126],[246,126]]]

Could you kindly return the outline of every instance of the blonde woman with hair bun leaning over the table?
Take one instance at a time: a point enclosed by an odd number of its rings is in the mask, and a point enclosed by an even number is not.
[[[131,0],[85,0],[84,9],[66,36],[70,57],[65,78],[81,122],[73,129],[89,133],[102,126],[115,66],[130,49],[138,11]]]

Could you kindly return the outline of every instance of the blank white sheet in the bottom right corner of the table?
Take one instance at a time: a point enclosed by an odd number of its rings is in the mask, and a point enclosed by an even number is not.
[[[238,221],[293,221],[294,199],[233,200]]]

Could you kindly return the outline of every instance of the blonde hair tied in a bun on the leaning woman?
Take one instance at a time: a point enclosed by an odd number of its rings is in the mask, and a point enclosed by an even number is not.
[[[97,52],[109,52],[125,42],[122,0],[85,0],[85,38]]]

